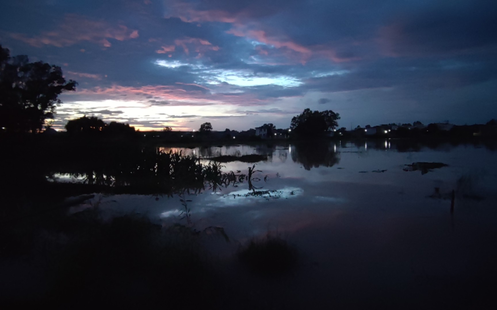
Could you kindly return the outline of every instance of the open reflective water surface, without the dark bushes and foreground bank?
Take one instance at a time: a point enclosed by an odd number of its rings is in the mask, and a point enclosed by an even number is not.
[[[255,167],[222,163],[224,172],[245,177],[185,194],[188,202],[177,195],[96,195],[71,212],[98,203],[108,217],[140,213],[168,226],[186,224],[187,204],[196,230],[224,229],[230,243],[212,241],[207,247],[227,261],[250,238],[280,236],[300,255],[290,279],[275,285],[236,281],[237,271],[225,275],[234,290],[277,305],[271,309],[327,302],[347,308],[478,307],[495,298],[497,163],[492,150],[448,144],[399,149],[390,140],[163,150],[205,163],[223,155],[267,159]]]

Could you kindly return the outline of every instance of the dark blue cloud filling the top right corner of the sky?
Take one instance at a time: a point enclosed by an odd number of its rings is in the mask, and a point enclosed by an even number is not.
[[[495,3],[479,0],[414,10],[380,27],[377,42],[394,57],[495,53],[496,14]]]

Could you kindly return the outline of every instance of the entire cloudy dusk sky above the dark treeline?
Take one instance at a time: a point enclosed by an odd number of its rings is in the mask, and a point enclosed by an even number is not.
[[[0,44],[62,67],[54,127],[141,130],[497,119],[497,1],[15,0]]]

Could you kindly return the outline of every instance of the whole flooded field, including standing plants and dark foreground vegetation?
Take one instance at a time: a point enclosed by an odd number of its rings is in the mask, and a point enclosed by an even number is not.
[[[30,258],[1,260],[2,298],[493,309],[495,156],[394,139],[66,155],[40,186],[77,197],[7,222],[2,245]],[[254,259],[254,241],[279,252]]]

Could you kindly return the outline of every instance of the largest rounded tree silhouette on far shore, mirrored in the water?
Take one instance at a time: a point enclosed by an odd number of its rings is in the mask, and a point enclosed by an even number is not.
[[[331,110],[313,112],[308,108],[302,114],[292,118],[290,129],[301,135],[319,135],[336,128],[339,119],[340,115]]]

